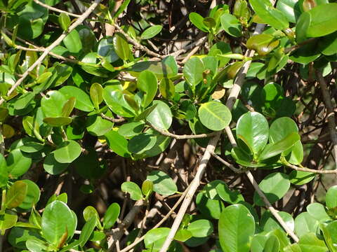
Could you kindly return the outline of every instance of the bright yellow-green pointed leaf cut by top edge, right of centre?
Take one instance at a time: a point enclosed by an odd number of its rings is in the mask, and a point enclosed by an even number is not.
[[[282,11],[272,6],[269,0],[250,0],[251,7],[263,22],[274,27],[275,29],[286,29],[289,22]]]

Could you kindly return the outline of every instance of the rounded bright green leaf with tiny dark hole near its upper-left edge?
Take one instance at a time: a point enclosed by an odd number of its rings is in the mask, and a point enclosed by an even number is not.
[[[67,98],[62,92],[51,90],[41,99],[41,109],[46,118],[62,116],[62,108],[67,102]]]

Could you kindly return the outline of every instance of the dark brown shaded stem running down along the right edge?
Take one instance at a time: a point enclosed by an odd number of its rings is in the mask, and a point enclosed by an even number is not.
[[[335,112],[333,111],[331,97],[328,91],[328,87],[326,85],[326,81],[324,80],[324,77],[322,76],[322,73],[316,70],[316,75],[318,78],[319,86],[321,87],[321,90],[322,90],[324,104],[326,106],[326,111],[328,113],[327,118],[328,118],[329,133],[330,133],[331,141],[333,144],[333,155],[334,155],[335,165],[337,169],[337,132],[336,132]]]

